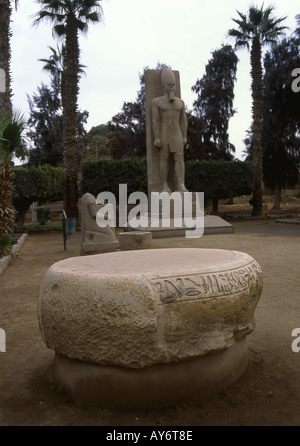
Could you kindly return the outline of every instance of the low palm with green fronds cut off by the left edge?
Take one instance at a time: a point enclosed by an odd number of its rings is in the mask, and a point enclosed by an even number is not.
[[[25,128],[26,121],[20,112],[0,112],[0,156],[3,160],[0,173],[0,237],[13,232],[15,209],[12,205],[11,159],[13,155],[24,159],[27,154],[23,138]]]

